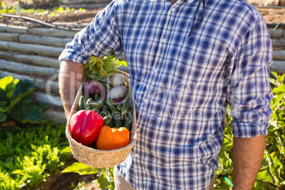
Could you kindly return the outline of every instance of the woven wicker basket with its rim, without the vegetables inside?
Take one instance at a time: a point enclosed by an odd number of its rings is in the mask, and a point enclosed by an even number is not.
[[[69,140],[70,147],[72,148],[72,154],[74,155],[74,158],[77,159],[79,162],[82,162],[83,164],[86,164],[90,167],[106,168],[121,164],[121,162],[123,162],[126,159],[128,154],[130,153],[130,150],[133,148],[137,140],[135,103],[133,101],[133,95],[131,92],[130,79],[128,77],[128,74],[125,72],[117,71],[116,73],[122,74],[125,77],[125,81],[127,82],[128,86],[128,95],[127,95],[128,102],[130,107],[133,108],[133,123],[132,123],[133,125],[131,131],[132,135],[130,136],[129,144],[126,147],[122,147],[116,150],[96,150],[91,147],[86,147],[81,143],[77,143],[77,141],[72,138],[69,121],[67,122],[67,127],[65,132]],[[72,114],[77,112],[77,104],[79,97],[82,96],[83,84],[84,82],[82,82],[82,84],[79,86],[79,91],[77,92],[74,104],[72,105],[72,111],[69,116],[69,120]]]

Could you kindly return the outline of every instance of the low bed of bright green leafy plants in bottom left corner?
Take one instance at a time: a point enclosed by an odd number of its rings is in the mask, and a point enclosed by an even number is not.
[[[66,145],[65,125],[0,128],[0,189],[40,186],[69,159],[60,153]]]

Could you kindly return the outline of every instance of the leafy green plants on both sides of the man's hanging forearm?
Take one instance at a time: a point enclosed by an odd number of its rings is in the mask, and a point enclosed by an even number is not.
[[[270,83],[272,85],[273,99],[271,107],[273,115],[269,121],[266,150],[262,165],[257,174],[253,189],[282,189],[285,185],[285,84],[283,75],[271,73]],[[216,173],[215,188],[230,189],[232,186],[225,177],[233,179],[233,134],[231,133],[230,108],[225,114],[225,133],[223,145],[219,154],[218,171]]]

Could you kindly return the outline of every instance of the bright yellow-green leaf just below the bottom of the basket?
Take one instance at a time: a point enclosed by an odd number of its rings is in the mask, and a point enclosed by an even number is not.
[[[75,172],[80,175],[96,174],[98,172],[98,169],[94,167],[89,167],[86,164],[82,164],[80,162],[74,162],[71,166],[65,168],[62,171],[62,173],[67,173],[67,172]]]

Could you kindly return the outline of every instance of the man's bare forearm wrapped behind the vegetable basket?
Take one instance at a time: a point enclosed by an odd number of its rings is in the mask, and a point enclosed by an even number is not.
[[[70,62],[64,60],[60,62],[60,75],[58,77],[60,97],[63,107],[65,108],[65,116],[68,119],[72,104],[74,102],[79,84],[84,78],[85,66],[78,62]]]

